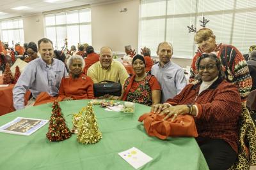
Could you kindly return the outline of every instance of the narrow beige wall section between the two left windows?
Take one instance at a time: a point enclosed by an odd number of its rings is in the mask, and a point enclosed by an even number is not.
[[[44,15],[32,15],[23,18],[24,41],[37,41],[44,38]]]

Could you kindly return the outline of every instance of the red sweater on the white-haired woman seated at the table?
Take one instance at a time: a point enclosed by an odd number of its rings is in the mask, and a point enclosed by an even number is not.
[[[66,97],[72,99],[94,99],[93,81],[90,77],[81,74],[79,78],[67,76],[61,80],[59,97],[61,101]]]

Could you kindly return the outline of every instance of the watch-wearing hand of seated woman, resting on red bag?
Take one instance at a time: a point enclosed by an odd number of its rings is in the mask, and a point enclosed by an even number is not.
[[[172,106],[169,108],[166,108],[165,110],[161,111],[160,115],[166,115],[164,117],[164,120],[166,120],[169,117],[172,117],[172,121],[177,118],[178,115],[185,115],[189,113],[189,108],[187,105],[182,104],[182,105],[177,105],[177,106]]]

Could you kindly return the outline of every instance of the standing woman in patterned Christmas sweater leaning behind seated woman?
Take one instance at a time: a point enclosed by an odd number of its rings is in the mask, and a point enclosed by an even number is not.
[[[204,28],[196,32],[194,39],[198,45],[198,52],[191,64],[189,82],[196,83],[198,81],[198,71],[196,70],[198,57],[203,53],[214,53],[220,58],[221,69],[224,71],[227,81],[236,85],[244,102],[252,87],[252,78],[246,60],[236,47],[232,45],[217,45],[215,38],[216,36],[211,29]]]

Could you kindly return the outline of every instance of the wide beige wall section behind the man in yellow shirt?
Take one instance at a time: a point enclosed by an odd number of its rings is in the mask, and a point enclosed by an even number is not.
[[[124,52],[125,45],[138,49],[139,0],[92,6],[92,45]],[[126,12],[120,9],[127,8]]]

